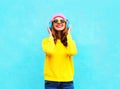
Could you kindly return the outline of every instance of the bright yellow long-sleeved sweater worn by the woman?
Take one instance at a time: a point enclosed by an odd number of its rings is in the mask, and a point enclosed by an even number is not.
[[[74,77],[72,56],[77,53],[76,44],[71,35],[67,35],[68,46],[65,47],[60,40],[54,44],[52,36],[42,41],[43,51],[46,53],[44,64],[44,78],[49,81],[67,82]]]

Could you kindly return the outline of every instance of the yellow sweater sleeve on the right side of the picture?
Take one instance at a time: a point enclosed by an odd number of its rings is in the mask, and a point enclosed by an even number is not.
[[[70,56],[75,55],[77,53],[76,43],[70,34],[67,35],[67,43],[67,54]]]

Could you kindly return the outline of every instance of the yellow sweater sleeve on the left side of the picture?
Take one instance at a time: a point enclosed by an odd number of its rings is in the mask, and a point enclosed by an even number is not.
[[[54,52],[54,39],[52,36],[42,40],[42,49],[46,54],[52,54]]]

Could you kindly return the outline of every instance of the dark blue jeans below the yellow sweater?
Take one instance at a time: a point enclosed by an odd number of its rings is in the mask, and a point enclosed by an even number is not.
[[[73,81],[54,82],[45,80],[45,89],[74,89]]]

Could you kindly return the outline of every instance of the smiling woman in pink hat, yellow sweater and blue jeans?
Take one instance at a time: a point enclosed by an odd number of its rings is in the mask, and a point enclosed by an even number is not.
[[[74,89],[74,66],[72,56],[77,53],[76,44],[70,35],[71,26],[62,14],[50,21],[50,36],[43,39],[46,54],[44,65],[45,89]]]

